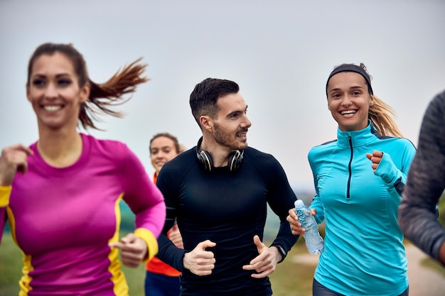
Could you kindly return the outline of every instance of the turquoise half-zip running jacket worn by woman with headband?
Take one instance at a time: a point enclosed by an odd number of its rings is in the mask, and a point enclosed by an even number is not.
[[[383,152],[375,172],[366,153]],[[380,136],[372,123],[337,130],[337,140],[313,147],[309,163],[316,195],[311,208],[326,221],[325,248],[314,278],[348,296],[400,295],[408,287],[397,207],[416,148],[406,138]]]

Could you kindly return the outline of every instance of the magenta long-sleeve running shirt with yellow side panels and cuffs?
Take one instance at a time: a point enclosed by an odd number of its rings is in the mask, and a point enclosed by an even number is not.
[[[82,155],[66,168],[45,163],[34,143],[28,172],[0,187],[0,229],[6,216],[23,251],[19,295],[128,295],[118,250],[108,246],[119,240],[121,199],[149,258],[157,252],[166,207],[143,165],[123,143],[85,134],[82,141]]]

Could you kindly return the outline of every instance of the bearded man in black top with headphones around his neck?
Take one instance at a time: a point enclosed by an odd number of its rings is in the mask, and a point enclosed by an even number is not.
[[[167,217],[158,258],[183,272],[183,296],[272,295],[268,275],[299,237],[286,221],[296,196],[279,162],[247,147],[251,122],[238,84],[203,80],[190,105],[203,136],[159,173]],[[269,247],[262,243],[267,204],[280,219]],[[184,249],[166,237],[175,218]]]

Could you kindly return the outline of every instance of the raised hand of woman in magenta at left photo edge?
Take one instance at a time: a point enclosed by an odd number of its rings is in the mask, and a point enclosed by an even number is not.
[[[33,155],[33,150],[21,144],[1,150],[0,186],[11,185],[16,172],[24,174],[28,170],[28,155]]]

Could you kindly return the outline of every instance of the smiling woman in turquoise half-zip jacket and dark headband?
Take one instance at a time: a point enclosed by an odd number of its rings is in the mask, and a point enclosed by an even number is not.
[[[375,97],[365,65],[336,67],[326,82],[337,139],[309,152],[318,223],[325,248],[313,279],[314,296],[407,296],[407,258],[397,207],[414,145]],[[304,234],[294,209],[293,234]]]

